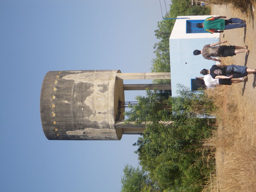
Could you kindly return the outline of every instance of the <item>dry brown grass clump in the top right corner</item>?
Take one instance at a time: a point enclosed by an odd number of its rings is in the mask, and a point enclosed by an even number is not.
[[[255,3],[255,0],[205,0],[207,3],[214,5],[231,5],[242,12],[247,11]]]

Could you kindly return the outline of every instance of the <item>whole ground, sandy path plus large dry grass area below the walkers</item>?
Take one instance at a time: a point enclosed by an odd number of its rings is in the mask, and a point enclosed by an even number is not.
[[[256,7],[255,7],[256,8]],[[243,28],[225,30],[224,45],[248,45],[250,54],[221,58],[222,64],[243,65],[256,69],[256,10],[242,13],[229,5],[211,8],[212,15],[246,20]],[[212,93],[217,98],[219,128],[210,144],[216,147],[217,174],[209,191],[256,191],[256,75],[248,82],[220,86]]]

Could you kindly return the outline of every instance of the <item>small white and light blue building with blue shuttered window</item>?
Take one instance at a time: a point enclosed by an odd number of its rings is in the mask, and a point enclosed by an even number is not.
[[[202,69],[210,69],[215,61],[207,60],[202,55],[193,55],[195,49],[202,50],[207,44],[219,42],[220,33],[207,33],[203,28],[197,28],[197,23],[202,23],[207,17],[216,15],[178,16],[189,19],[176,19],[169,38],[170,68],[172,96],[176,96],[176,84],[180,83],[196,91],[199,86],[195,77],[201,77]]]

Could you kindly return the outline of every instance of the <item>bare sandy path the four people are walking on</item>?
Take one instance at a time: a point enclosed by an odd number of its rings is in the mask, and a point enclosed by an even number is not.
[[[229,5],[213,5],[211,7],[211,13],[213,15],[226,16],[227,19],[231,17],[238,17],[246,20],[246,30],[244,30],[244,28],[224,30],[224,33],[221,33],[220,35],[220,39],[228,41],[226,44],[223,45],[248,45],[248,49],[250,50],[249,56],[246,56],[246,53],[240,53],[236,56],[228,57],[228,59],[223,61],[230,61],[233,62],[233,64],[235,65],[246,65],[248,68],[256,69],[256,10],[252,10],[250,13],[245,14],[239,10],[234,10]],[[226,64],[224,62],[223,64]],[[256,104],[255,81],[256,75],[253,76],[253,74],[250,74],[248,76],[247,83],[239,84],[239,86],[241,87],[241,93],[244,95],[245,98],[249,99],[253,105]]]

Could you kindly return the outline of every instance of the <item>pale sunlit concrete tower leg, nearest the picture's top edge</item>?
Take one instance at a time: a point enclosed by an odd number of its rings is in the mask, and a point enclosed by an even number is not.
[[[117,73],[116,79],[131,80],[131,79],[171,79],[170,72],[163,73]]]

